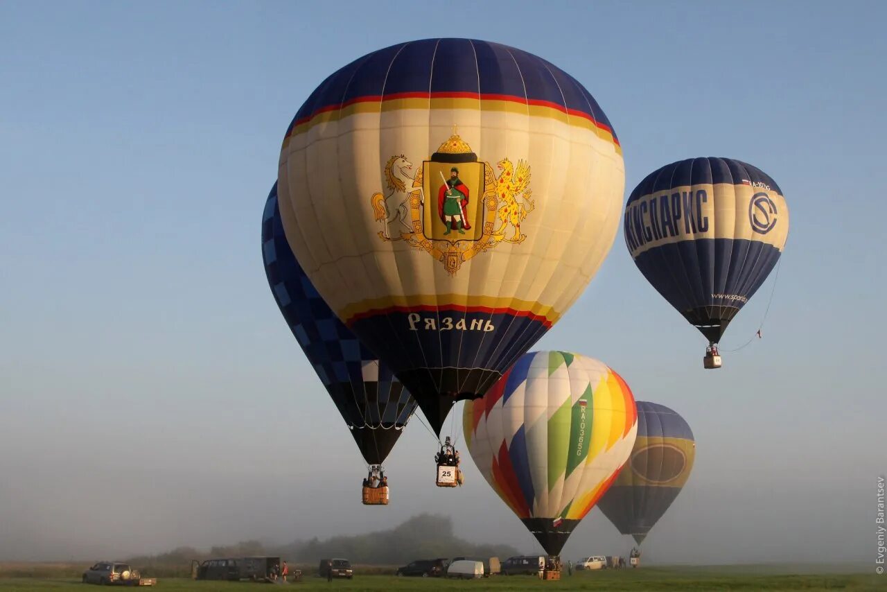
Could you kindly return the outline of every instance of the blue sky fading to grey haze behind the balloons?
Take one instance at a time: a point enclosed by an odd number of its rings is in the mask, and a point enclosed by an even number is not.
[[[703,371],[703,338],[621,233],[538,349],[604,360],[695,431],[649,556],[873,559],[885,18],[875,2],[0,4],[0,474],[16,476],[0,482],[0,559],[289,541],[426,509],[536,549],[473,467],[470,486],[436,490],[418,422],[389,459],[393,505],[362,507],[363,464],[264,277],[295,111],[350,60],[432,36],[514,45],[584,83],[624,146],[626,196],[702,155],[779,183],[792,227],[764,339],[722,370]],[[151,517],[142,540],[101,534],[99,509]],[[623,548],[593,510],[565,554]]]

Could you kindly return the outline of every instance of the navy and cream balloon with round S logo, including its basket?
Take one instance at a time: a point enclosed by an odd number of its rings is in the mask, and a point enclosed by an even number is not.
[[[640,272],[709,340],[718,342],[761,287],[789,236],[789,208],[763,171],[729,158],[672,162],[625,206],[625,243]]]

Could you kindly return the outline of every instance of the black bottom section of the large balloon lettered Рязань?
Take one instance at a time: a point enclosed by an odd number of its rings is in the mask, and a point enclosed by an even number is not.
[[[422,414],[438,436],[456,401],[483,397],[501,377],[500,372],[480,368],[417,368],[397,375],[407,391],[440,393],[437,397],[416,398]]]

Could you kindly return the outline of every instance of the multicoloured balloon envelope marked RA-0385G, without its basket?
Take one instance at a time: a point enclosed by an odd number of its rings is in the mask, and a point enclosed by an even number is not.
[[[549,556],[628,460],[637,412],[602,362],[530,351],[462,416],[471,458]]]

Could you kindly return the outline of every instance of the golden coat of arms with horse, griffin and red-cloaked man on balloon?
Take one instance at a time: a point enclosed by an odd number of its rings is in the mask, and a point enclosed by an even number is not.
[[[530,165],[503,158],[498,177],[455,132],[413,172],[404,154],[385,165],[388,194],[373,193],[382,241],[424,249],[454,275],[462,263],[501,241],[521,243],[521,223],[535,209]],[[510,227],[510,228],[509,228]]]

